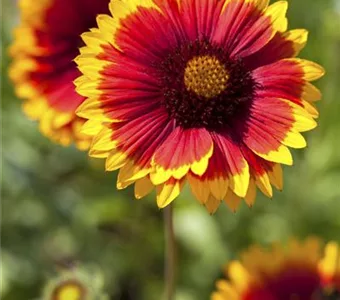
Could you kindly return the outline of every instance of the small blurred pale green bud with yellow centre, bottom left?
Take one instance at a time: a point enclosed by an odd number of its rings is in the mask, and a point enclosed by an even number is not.
[[[102,274],[97,269],[61,271],[43,291],[43,300],[108,300],[102,293]]]

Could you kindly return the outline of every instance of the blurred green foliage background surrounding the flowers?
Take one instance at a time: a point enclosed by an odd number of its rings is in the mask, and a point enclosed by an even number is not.
[[[55,270],[96,265],[110,299],[159,300],[163,289],[163,221],[154,195],[117,191],[115,174],[74,147],[57,146],[26,119],[7,79],[6,48],[18,22],[16,1],[1,2],[1,294],[36,299]],[[319,127],[295,151],[285,188],[259,195],[236,214],[210,216],[188,188],[175,201],[178,240],[176,300],[208,299],[222,265],[250,243],[318,235],[340,241],[340,1],[289,0],[290,28],[307,28],[300,56],[326,76]]]

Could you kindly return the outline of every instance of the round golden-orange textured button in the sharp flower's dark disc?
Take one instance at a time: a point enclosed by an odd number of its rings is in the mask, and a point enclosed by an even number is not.
[[[210,55],[195,56],[188,61],[184,71],[187,90],[208,99],[218,96],[226,89],[228,78],[224,65]]]

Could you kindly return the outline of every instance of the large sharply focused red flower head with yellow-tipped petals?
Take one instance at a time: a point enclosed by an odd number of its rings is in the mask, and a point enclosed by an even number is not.
[[[213,213],[282,188],[288,147],[317,125],[310,81],[324,70],[295,58],[307,32],[286,31],[287,2],[268,2],[111,0],[113,17],[82,35],[77,114],[118,189],[156,187],[162,208],[189,182]]]

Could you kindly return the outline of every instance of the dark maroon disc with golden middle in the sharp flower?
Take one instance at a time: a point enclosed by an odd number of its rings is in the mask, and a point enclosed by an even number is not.
[[[241,59],[197,40],[173,49],[154,67],[162,104],[177,126],[222,130],[245,124],[256,82]]]

